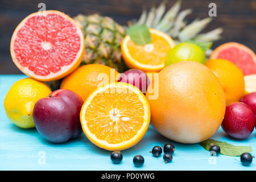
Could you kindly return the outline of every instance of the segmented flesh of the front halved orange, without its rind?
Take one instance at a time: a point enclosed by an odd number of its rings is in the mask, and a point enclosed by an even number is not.
[[[85,111],[86,125],[93,135],[108,143],[121,143],[133,138],[144,122],[143,104],[134,92],[111,88],[98,93]]]

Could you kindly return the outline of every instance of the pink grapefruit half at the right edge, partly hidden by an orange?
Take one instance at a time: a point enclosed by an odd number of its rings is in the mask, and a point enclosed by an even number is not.
[[[243,44],[229,42],[214,49],[210,59],[226,59],[236,64],[243,72],[243,75],[256,74],[255,53]]]

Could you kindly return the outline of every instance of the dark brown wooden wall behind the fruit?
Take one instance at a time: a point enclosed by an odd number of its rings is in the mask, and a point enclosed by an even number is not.
[[[10,56],[10,40],[15,27],[27,15],[38,11],[38,3],[46,3],[47,10],[59,10],[70,16],[93,14],[110,16],[118,23],[126,25],[128,20],[137,19],[142,7],[147,10],[158,6],[162,0],[0,0],[0,74],[21,74]],[[176,0],[167,0],[167,9]],[[256,0],[183,0],[181,10],[192,8],[187,17],[193,20],[208,16],[208,5],[217,5],[217,17],[205,29],[224,28],[222,40],[213,48],[225,42],[239,42],[256,51]]]

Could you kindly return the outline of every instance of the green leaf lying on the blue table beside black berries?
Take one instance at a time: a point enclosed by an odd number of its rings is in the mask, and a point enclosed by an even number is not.
[[[213,139],[208,139],[208,140],[205,140],[204,142],[200,142],[200,145],[203,146],[205,148],[205,150],[208,150],[208,151],[210,149],[210,144],[216,144],[216,145],[220,146],[220,148],[221,148],[220,154],[228,155],[228,156],[240,156],[244,152],[253,151],[251,149],[251,147],[233,146],[233,144],[229,144],[226,142],[219,142],[219,141],[213,140]]]

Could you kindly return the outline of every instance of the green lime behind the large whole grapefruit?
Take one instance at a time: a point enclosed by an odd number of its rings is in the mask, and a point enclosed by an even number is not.
[[[196,61],[201,64],[206,64],[206,58],[203,49],[196,44],[184,42],[177,44],[168,52],[166,56],[165,66],[174,64],[180,61]]]

